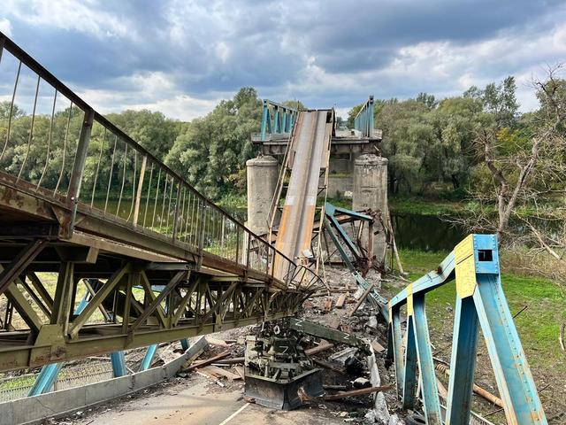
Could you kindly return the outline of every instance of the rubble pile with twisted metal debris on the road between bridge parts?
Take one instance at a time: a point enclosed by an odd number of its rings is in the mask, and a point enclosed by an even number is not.
[[[209,346],[181,376],[194,372],[218,387],[239,385],[246,401],[262,406],[324,409],[348,422],[402,423],[387,408],[397,402],[394,381],[383,373],[386,324],[377,309],[359,302],[363,290],[353,288],[349,276],[350,285],[336,285],[342,272],[335,269],[334,284],[308,299],[298,318],[246,328],[235,340],[207,337]]]

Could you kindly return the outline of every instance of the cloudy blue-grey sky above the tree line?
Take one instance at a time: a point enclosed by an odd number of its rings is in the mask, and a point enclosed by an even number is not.
[[[0,30],[100,112],[180,120],[241,86],[344,114],[566,62],[562,0],[2,0]]]

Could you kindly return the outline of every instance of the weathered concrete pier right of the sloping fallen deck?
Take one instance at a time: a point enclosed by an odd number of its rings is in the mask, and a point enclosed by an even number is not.
[[[387,220],[387,163],[386,158],[364,154],[354,161],[354,192],[352,205],[355,211],[371,208],[381,211]],[[386,235],[380,223],[374,223],[373,253],[378,266],[385,265]],[[364,239],[367,235],[364,235]]]

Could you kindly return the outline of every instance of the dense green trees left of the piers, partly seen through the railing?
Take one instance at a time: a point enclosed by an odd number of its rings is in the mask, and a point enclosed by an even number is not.
[[[76,106],[61,106],[53,120],[50,114],[32,115],[18,104],[11,109],[10,102],[0,102],[0,169],[65,194],[84,113]],[[107,118],[206,196],[218,199],[245,190],[245,163],[253,155],[250,134],[258,130],[261,120],[255,89],[242,88],[233,99],[191,122],[147,110],[111,113]],[[84,169],[83,199],[90,199],[93,188],[99,201],[108,197],[107,191],[133,197],[134,176],[141,166],[142,158],[128,150],[126,143],[95,124]]]

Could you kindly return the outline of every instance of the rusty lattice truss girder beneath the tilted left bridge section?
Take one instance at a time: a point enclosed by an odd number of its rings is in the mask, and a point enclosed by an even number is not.
[[[49,322],[37,319],[37,329],[0,331],[4,342],[0,370],[38,367],[279,319],[297,312],[310,295],[276,290],[266,283],[235,276],[225,276],[218,282],[210,274],[167,269],[151,271],[159,282],[154,285],[144,268],[139,261],[125,260],[111,278],[95,288],[74,276],[72,262],[63,262]],[[169,289],[156,296],[156,288],[161,288],[166,279],[170,280],[165,287]],[[90,299],[81,311],[70,314],[81,285],[91,294]],[[36,275],[34,288],[47,292]],[[30,312],[39,308],[26,304]],[[16,308],[20,311],[19,306]],[[107,311],[111,322],[106,322],[108,317],[98,319],[99,311]],[[21,313],[23,317],[25,312]],[[28,344],[22,344],[26,338]]]

